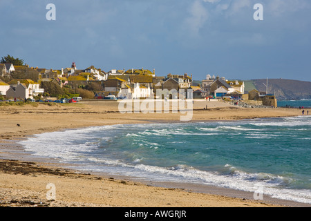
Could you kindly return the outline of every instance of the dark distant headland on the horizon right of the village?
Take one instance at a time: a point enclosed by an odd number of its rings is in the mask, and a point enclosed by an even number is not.
[[[291,79],[252,79],[245,81],[245,90],[247,88],[256,88],[259,91],[265,91],[268,85],[268,93],[275,94],[276,99],[311,99],[311,82],[297,81]]]

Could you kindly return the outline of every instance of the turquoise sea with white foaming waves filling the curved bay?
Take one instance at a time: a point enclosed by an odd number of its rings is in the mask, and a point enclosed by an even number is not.
[[[81,171],[259,189],[311,204],[311,115],[93,126],[41,133],[20,144]]]

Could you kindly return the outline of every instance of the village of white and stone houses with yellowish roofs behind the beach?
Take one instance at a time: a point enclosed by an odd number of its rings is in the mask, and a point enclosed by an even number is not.
[[[27,73],[31,73],[31,79]],[[75,62],[70,68],[61,70],[0,64],[0,99],[6,101],[64,103],[79,102],[79,99],[146,99],[159,98],[156,97],[157,90],[191,90],[193,99],[254,100],[263,106],[277,106],[274,95],[258,90],[245,91],[242,80],[207,75],[199,82],[193,80],[192,74],[158,76],[155,69],[144,68],[105,72],[94,66],[77,69]],[[176,99],[180,96],[178,93],[174,97],[169,94],[160,98]]]

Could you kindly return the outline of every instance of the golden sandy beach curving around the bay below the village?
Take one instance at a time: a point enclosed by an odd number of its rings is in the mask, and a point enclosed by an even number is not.
[[[207,110],[204,108],[208,106]],[[81,173],[66,165],[23,153],[16,141],[68,128],[111,124],[180,122],[182,113],[120,113],[113,101],[79,104],[0,106],[0,206],[104,207],[266,207],[310,206],[252,193],[170,183],[139,182],[131,177]],[[301,115],[295,108],[240,108],[225,102],[194,102],[191,121],[238,120]],[[17,126],[19,124],[19,126]],[[56,186],[47,200],[46,185]]]

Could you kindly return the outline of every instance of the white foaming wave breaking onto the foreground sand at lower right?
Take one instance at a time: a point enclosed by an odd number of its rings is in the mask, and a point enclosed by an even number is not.
[[[245,171],[238,170],[234,166],[230,165],[224,167],[229,169],[229,174],[219,175],[212,172],[200,171],[187,165],[162,168],[158,166],[139,164],[135,166],[135,169],[147,171],[148,173],[156,173],[158,174],[157,176],[159,179],[161,179],[160,175],[169,175],[171,177],[176,177],[176,182],[208,184],[241,191],[254,192],[258,190],[258,186],[261,186],[263,193],[265,195],[270,195],[272,198],[294,200],[296,202],[311,204],[310,190],[279,188],[280,185],[283,185],[286,182],[292,182],[291,178],[280,177],[268,173],[246,173]]]

